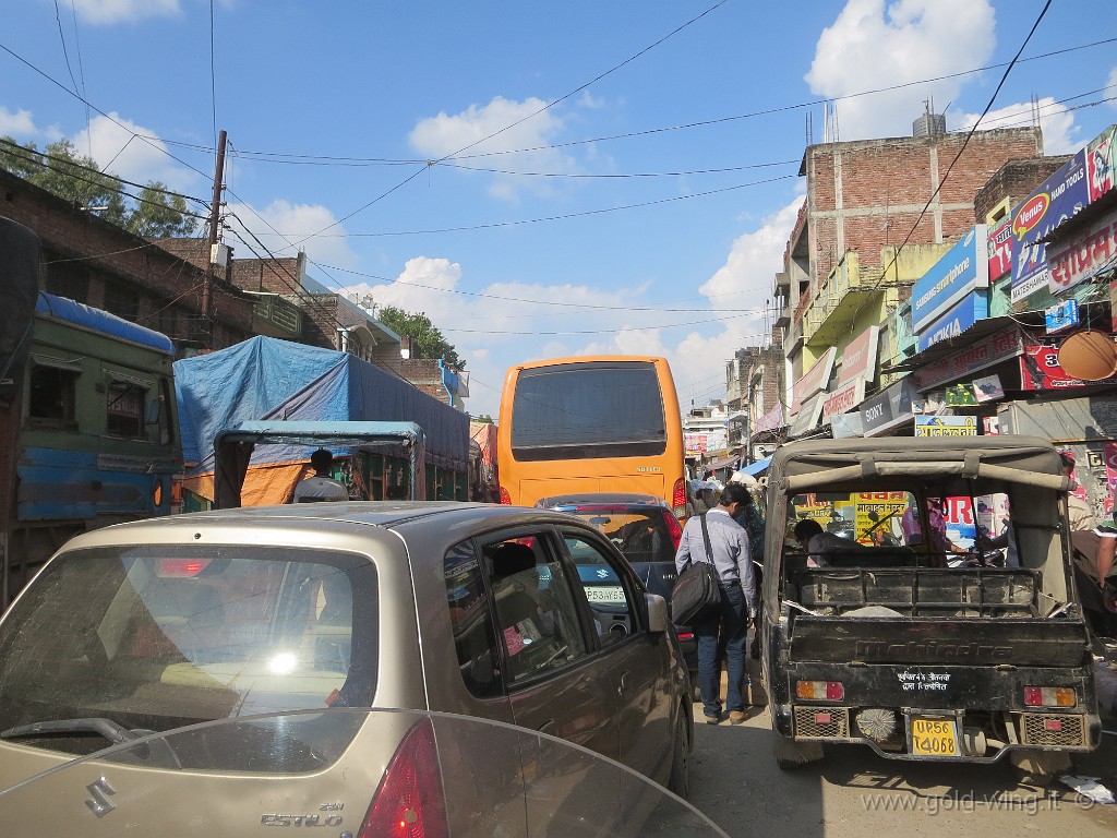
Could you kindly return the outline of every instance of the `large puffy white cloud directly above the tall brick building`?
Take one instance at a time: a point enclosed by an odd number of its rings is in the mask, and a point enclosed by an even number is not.
[[[898,0],[887,7],[885,0],[849,0],[822,31],[805,80],[812,92],[840,98],[980,67],[993,54],[994,18],[989,0]],[[961,86],[962,79],[949,78],[841,99],[838,139],[907,136],[925,99],[942,113]]]

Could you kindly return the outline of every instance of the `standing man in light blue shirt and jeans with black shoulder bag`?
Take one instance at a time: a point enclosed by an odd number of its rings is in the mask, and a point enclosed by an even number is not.
[[[713,561],[720,582],[720,611],[690,627],[698,638],[698,687],[701,691],[703,712],[709,724],[722,721],[722,698],[717,683],[718,632],[726,638],[729,684],[725,703],[729,710],[729,722],[741,724],[747,717],[742,687],[745,679],[748,620],[756,610],[756,578],[748,549],[748,533],[736,518],[743,515],[752,502],[747,488],[731,483],[722,492],[718,505],[705,515],[709,531],[709,552],[703,535],[701,516],[696,515],[687,521],[675,554],[675,568],[680,573],[688,562]]]

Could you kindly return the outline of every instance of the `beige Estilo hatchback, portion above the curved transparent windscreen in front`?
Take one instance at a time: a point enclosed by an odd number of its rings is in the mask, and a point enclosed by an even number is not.
[[[589,551],[619,597],[588,596]],[[542,731],[688,791],[666,604],[561,513],[340,503],[122,524],[71,540],[0,619],[0,789],[113,740],[354,707]]]

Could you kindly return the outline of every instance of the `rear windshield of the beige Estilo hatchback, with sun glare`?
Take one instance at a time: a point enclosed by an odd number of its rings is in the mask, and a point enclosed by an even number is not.
[[[4,619],[0,730],[106,717],[163,731],[369,706],[375,603],[374,566],[346,553],[169,545],[66,553]]]

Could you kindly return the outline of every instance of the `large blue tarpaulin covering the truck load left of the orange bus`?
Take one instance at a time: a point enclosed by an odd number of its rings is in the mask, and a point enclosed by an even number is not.
[[[174,362],[187,476],[213,470],[218,431],[239,422],[410,421],[427,435],[428,463],[462,470],[469,417],[347,352],[276,337]],[[341,451],[335,451],[341,454]],[[252,463],[306,459],[306,446],[267,446]]]

